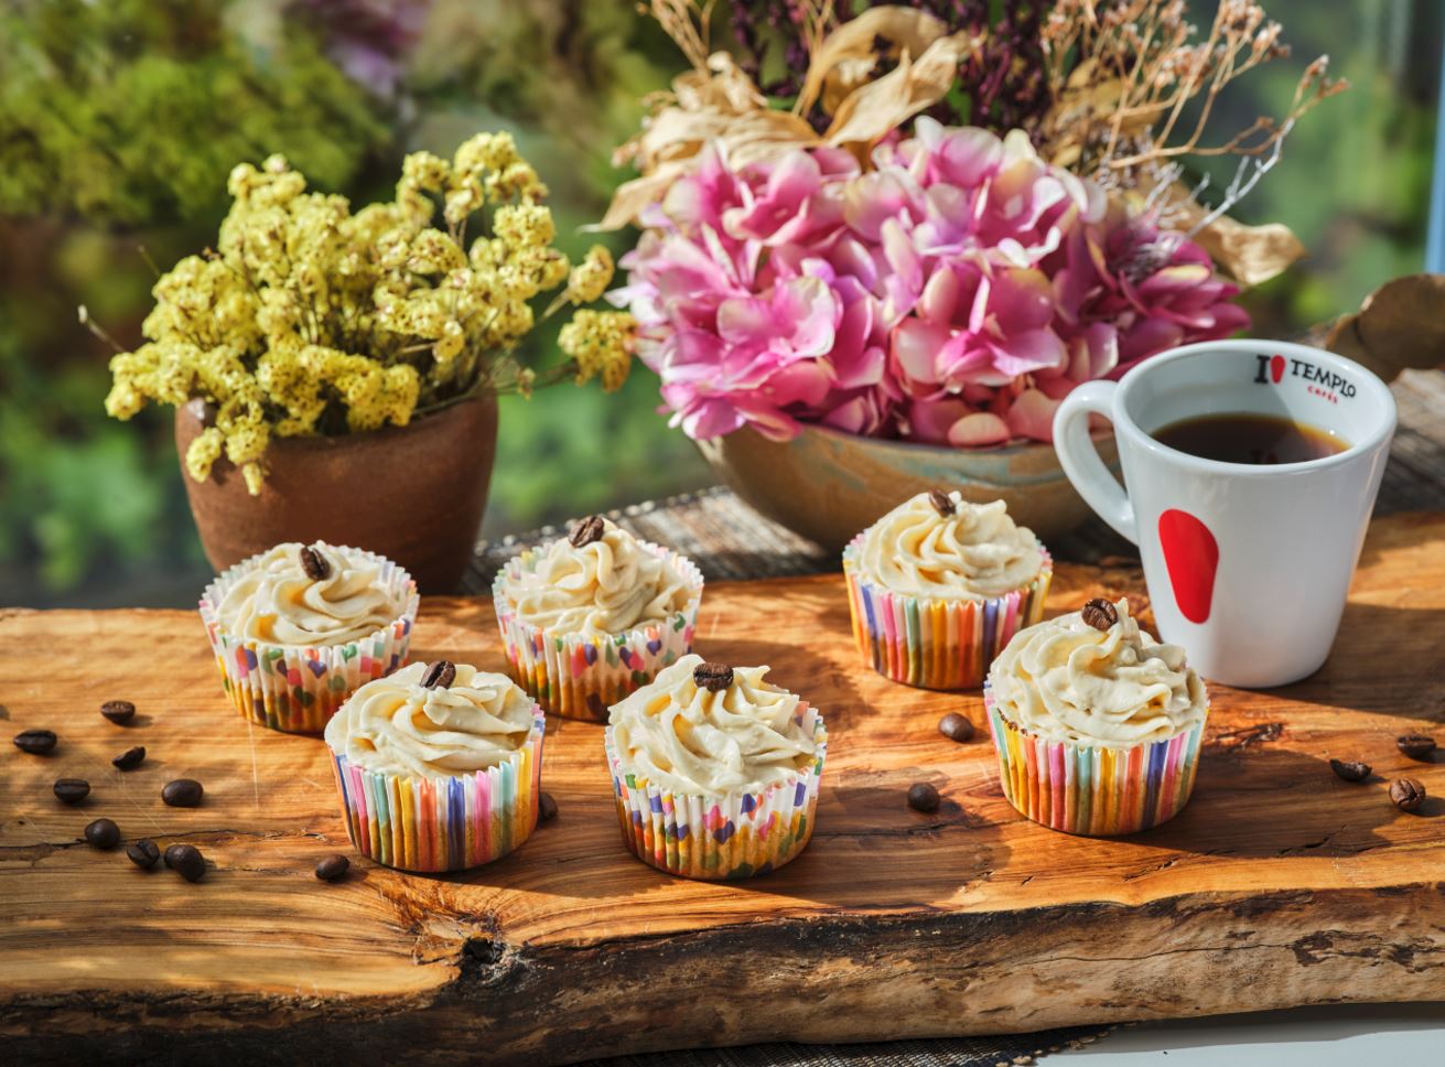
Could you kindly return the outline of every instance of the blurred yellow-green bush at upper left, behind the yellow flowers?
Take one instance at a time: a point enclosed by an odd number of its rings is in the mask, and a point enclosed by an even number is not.
[[[325,188],[390,143],[306,33],[250,48],[223,0],[14,0],[0,16],[0,213],[111,226],[215,214],[238,160]],[[240,7],[240,6],[236,6]]]

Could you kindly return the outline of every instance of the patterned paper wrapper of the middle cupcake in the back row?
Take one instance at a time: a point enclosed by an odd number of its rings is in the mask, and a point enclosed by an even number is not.
[[[558,635],[525,622],[507,600],[503,586],[538,565],[542,558],[538,549],[527,549],[497,574],[491,597],[507,671],[548,713],[604,723],[608,706],[646,685],[657,671],[692,651],[698,604],[702,603],[702,573],[686,557],[647,541],[640,544],[669,561],[688,583],[692,597],[665,623],[626,633]]]

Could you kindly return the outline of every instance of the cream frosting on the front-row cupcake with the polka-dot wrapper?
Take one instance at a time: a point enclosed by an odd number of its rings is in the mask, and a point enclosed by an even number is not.
[[[733,794],[812,765],[812,721],[795,694],[763,681],[769,668],[737,667],[714,691],[692,678],[701,662],[682,656],[613,706],[613,745],[627,771],[675,792]]]

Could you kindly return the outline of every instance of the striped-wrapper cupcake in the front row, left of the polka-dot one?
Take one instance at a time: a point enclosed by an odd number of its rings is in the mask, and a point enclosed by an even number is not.
[[[367,682],[327,723],[351,844],[402,870],[462,870],[538,824],[542,708],[504,674],[441,659]]]

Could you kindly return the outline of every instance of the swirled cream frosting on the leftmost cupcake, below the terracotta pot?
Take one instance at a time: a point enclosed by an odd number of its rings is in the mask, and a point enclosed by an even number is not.
[[[381,564],[316,542],[327,577],[301,565],[302,545],[276,545],[236,578],[217,607],[221,627],[273,645],[341,645],[370,636],[402,614],[381,583]]]

